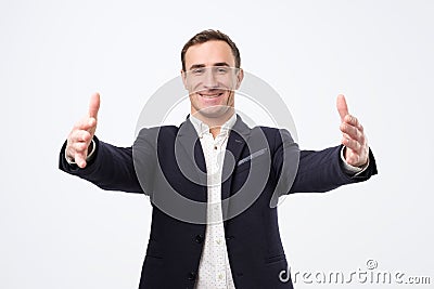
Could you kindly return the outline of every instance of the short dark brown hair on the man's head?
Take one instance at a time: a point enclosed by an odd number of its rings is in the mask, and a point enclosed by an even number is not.
[[[228,45],[232,50],[233,57],[235,58],[235,67],[240,68],[240,65],[241,65],[240,51],[238,50],[238,48],[237,48],[235,43],[232,41],[232,39],[230,39],[229,36],[227,36],[226,34],[220,32],[219,30],[208,29],[208,30],[203,30],[203,31],[196,34],[183,45],[182,51],[181,51],[181,62],[182,62],[182,70],[183,71],[186,71],[186,53],[189,50],[189,48],[191,48],[195,44],[202,44],[202,43],[205,43],[205,42],[212,41],[212,40],[220,40],[220,41],[225,41],[226,43],[228,43]]]

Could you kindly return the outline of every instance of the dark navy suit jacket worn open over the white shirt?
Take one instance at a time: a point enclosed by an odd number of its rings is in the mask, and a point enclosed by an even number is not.
[[[64,144],[60,169],[103,189],[150,196],[151,234],[139,288],[194,288],[206,228],[206,206],[197,203],[206,205],[207,188],[205,159],[192,123],[143,129],[132,147],[94,140],[97,150],[85,169],[65,161]],[[327,192],[376,173],[370,152],[367,170],[347,175],[340,163],[341,149],[299,150],[288,131],[251,129],[238,116],[221,183],[225,236],[237,288],[293,288],[291,279],[279,278],[288,262],[277,199],[290,193]]]

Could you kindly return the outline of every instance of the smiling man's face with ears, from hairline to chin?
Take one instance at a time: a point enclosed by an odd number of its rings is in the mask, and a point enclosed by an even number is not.
[[[230,116],[234,92],[243,71],[235,67],[231,48],[225,41],[212,40],[190,47],[184,56],[182,80],[189,91],[191,114],[196,117]],[[200,114],[200,115],[196,115]]]

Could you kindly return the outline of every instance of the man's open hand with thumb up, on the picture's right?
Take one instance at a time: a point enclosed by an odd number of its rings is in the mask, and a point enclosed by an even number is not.
[[[345,146],[345,160],[350,166],[363,167],[368,162],[369,155],[369,146],[363,127],[356,117],[348,114],[344,95],[337,95],[336,106],[341,116],[342,144]]]

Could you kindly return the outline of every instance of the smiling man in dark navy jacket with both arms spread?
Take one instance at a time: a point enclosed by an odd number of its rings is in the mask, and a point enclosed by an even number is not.
[[[279,278],[288,262],[272,198],[326,192],[375,174],[363,128],[339,95],[342,145],[299,152],[288,131],[248,128],[234,114],[234,90],[244,74],[228,36],[195,35],[181,61],[191,114],[180,127],[145,128],[133,147],[103,143],[94,136],[95,93],[89,116],[61,150],[60,168],[104,189],[150,196],[141,289],[293,288]]]

